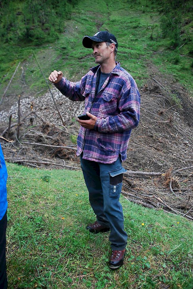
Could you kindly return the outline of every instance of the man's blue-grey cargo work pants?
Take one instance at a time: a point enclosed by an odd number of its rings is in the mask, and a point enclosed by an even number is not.
[[[126,170],[118,157],[112,164],[97,163],[83,159],[80,163],[85,183],[89,192],[89,201],[97,221],[110,227],[109,240],[112,250],[123,250],[127,243],[127,233],[124,231],[123,209],[119,197]]]

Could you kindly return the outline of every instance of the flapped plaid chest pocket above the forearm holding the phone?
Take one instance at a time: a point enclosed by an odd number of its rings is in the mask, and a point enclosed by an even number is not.
[[[99,107],[99,112],[106,115],[115,115],[118,106],[118,97],[110,94],[103,93],[102,100]]]

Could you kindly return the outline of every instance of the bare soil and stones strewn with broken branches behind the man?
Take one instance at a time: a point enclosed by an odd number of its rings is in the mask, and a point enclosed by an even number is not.
[[[130,139],[127,159],[129,171],[161,172],[161,176],[125,175],[123,194],[130,201],[156,210],[185,215],[193,220],[192,195],[192,112],[193,102],[186,88],[171,76],[162,75],[151,62],[148,82],[140,88],[141,117]],[[83,112],[83,102],[72,102],[53,88],[53,95],[65,126],[57,113],[50,93],[35,98],[21,98],[20,139],[15,140],[16,127],[1,138],[7,161],[44,168],[80,168],[76,157],[77,115]],[[18,121],[18,103],[4,103],[0,112],[0,133]],[[35,113],[34,113],[35,112]],[[13,142],[8,142],[13,141]],[[69,149],[24,144],[42,143],[68,146]],[[33,163],[32,163],[33,162]],[[182,171],[175,171],[186,168]],[[171,185],[171,187],[170,187]]]

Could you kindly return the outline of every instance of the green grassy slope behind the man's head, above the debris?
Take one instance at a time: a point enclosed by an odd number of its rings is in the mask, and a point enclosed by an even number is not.
[[[146,59],[151,59],[164,74],[172,74],[191,92],[193,85],[192,58],[188,57],[188,45],[180,50],[169,50],[168,39],[159,38],[160,14],[158,7],[151,1],[135,1],[132,5],[128,1],[91,1],[81,0],[72,14],[72,19],[66,23],[66,32],[60,35],[55,43],[41,47],[3,45],[1,52],[1,71],[6,76],[2,80],[0,92],[4,91],[8,80],[19,60],[23,61],[25,76],[22,80],[26,86],[21,86],[21,68],[19,68],[9,93],[17,92],[33,95],[47,89],[45,81],[34,60],[32,51],[37,54],[39,62],[47,77],[53,69],[61,69],[65,76],[73,81],[80,80],[90,67],[94,66],[92,51],[82,46],[82,37],[93,35],[100,27],[109,29],[117,36],[119,42],[117,60],[136,79],[140,87],[148,79]],[[190,15],[184,17],[190,18]],[[192,22],[185,26],[190,34]],[[98,28],[97,28],[98,27]],[[150,39],[152,29],[153,40]],[[157,40],[158,35],[158,40]],[[190,37],[191,34],[190,34]],[[156,53],[154,53],[157,51]],[[179,55],[179,51],[181,55]],[[175,61],[177,57],[177,61]],[[176,64],[175,64],[176,63]]]

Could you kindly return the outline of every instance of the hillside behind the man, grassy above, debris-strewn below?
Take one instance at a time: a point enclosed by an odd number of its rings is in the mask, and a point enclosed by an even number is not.
[[[140,3],[142,4],[142,1]],[[132,133],[124,166],[129,171],[165,174],[165,177],[159,177],[158,180],[147,176],[134,176],[134,181],[133,175],[126,176],[124,193],[130,200],[148,207],[164,207],[169,211],[169,207],[172,207],[181,215],[189,212],[186,217],[192,219],[190,198],[193,82],[192,71],[182,69],[191,66],[191,41],[180,48],[183,54],[180,59],[177,58],[178,61],[173,62],[171,57],[176,59],[179,49],[168,49],[171,40],[162,39],[160,36],[162,32],[159,21],[163,13],[160,14],[155,3],[145,3],[142,7],[136,2],[128,9],[126,1],[116,4],[116,7],[113,3],[110,5],[105,1],[101,2],[100,7],[96,3],[90,5],[90,1],[80,1],[71,19],[65,22],[65,32],[59,39],[46,46],[34,47],[34,52],[45,76],[49,75],[50,70],[57,68],[64,71],[67,78],[76,81],[95,65],[91,51],[82,46],[83,35],[92,35],[96,29],[109,29],[118,35],[117,60],[136,79],[142,100],[140,124]],[[85,11],[84,7],[90,9]],[[103,13],[99,13],[101,11]],[[192,29],[189,12],[183,15],[184,19],[189,19],[184,26],[186,33]],[[114,25],[115,20],[119,23],[118,26]],[[159,35],[157,38],[153,33],[155,24]],[[179,45],[181,46],[181,43]],[[20,127],[19,143],[13,146],[2,140],[7,161],[34,167],[80,168],[79,158],[75,155],[79,130],[76,116],[82,112],[84,104],[72,104],[49,84],[61,112],[64,127],[50,93],[38,97],[38,94],[42,94],[46,89],[46,84],[34,55],[30,55],[27,61],[21,63],[19,69],[21,68],[22,70],[15,74],[9,88],[10,92],[15,91],[15,98],[10,96],[9,99],[9,96],[6,96],[7,101],[1,105],[3,136],[10,141],[15,140],[16,126],[13,126],[8,136],[5,128],[8,127],[9,118],[12,125],[17,124],[18,103],[15,99],[18,94],[21,95],[21,119],[30,115]],[[26,142],[69,148],[45,147]],[[173,175],[173,171],[181,168],[189,169]],[[152,191],[157,197],[162,198],[161,203],[152,196]]]

